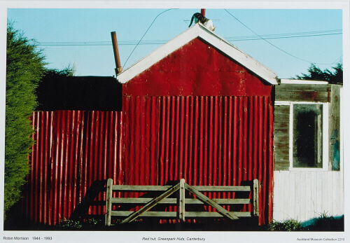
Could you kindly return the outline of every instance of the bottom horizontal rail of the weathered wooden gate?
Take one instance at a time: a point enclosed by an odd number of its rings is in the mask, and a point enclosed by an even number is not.
[[[130,214],[133,214],[134,211],[111,211],[112,216],[130,216]],[[235,214],[239,217],[250,217],[251,212],[250,211],[232,211],[230,212],[232,214]],[[174,218],[176,217],[176,211],[145,211],[144,214],[142,214],[140,217],[164,217],[164,218]],[[186,217],[187,218],[194,218],[194,217],[223,217],[218,212],[214,211],[186,211]]]

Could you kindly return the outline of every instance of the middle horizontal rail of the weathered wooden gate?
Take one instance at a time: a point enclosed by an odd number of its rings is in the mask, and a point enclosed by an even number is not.
[[[112,197],[112,203],[126,203],[126,204],[146,204],[153,200],[150,197]],[[250,204],[251,200],[248,198],[237,198],[237,199],[227,199],[227,198],[216,198],[212,199],[217,204]],[[158,204],[176,204],[176,198],[165,198]],[[195,198],[186,198],[186,204],[204,204],[204,202],[197,200]]]

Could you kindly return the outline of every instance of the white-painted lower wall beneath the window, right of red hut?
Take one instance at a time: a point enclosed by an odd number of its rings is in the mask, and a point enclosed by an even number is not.
[[[344,180],[339,172],[274,172],[274,213],[276,221],[307,221],[325,213],[344,214]]]

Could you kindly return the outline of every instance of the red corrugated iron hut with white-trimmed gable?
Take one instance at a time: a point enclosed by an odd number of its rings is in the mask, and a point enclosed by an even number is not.
[[[117,79],[123,183],[183,178],[239,186],[258,179],[259,223],[272,220],[274,72],[198,23]]]

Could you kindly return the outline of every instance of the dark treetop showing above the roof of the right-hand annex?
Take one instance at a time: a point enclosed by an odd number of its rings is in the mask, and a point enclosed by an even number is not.
[[[319,67],[316,67],[315,64],[311,64],[309,69],[307,69],[307,74],[297,75],[297,79],[309,79],[309,80],[319,80],[319,81],[328,81],[329,83],[343,83],[343,65],[337,63],[335,67],[332,67],[334,71],[329,69],[321,70]]]

